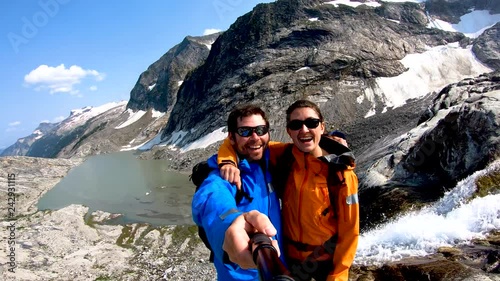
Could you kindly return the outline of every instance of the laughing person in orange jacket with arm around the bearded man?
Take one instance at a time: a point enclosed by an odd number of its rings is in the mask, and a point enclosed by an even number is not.
[[[322,137],[323,116],[313,102],[296,101],[287,109],[286,118],[294,143],[293,158],[284,160],[283,156],[290,153],[290,144],[270,142],[269,148],[271,164],[278,167],[272,176],[287,175],[283,187],[277,183],[275,188],[282,197],[282,249],[288,267],[296,280],[347,281],[359,236],[354,158],[347,147]],[[236,162],[235,157],[226,139],[218,162]],[[289,171],[284,172],[283,167]],[[224,165],[221,174],[231,179],[227,175],[237,174],[235,169]]]

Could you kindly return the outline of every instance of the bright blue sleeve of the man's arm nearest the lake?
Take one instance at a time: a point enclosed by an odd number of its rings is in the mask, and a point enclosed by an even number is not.
[[[191,203],[193,221],[202,226],[215,258],[223,261],[224,235],[237,216],[235,201],[236,187],[219,177],[219,171],[213,171],[193,195]]]

